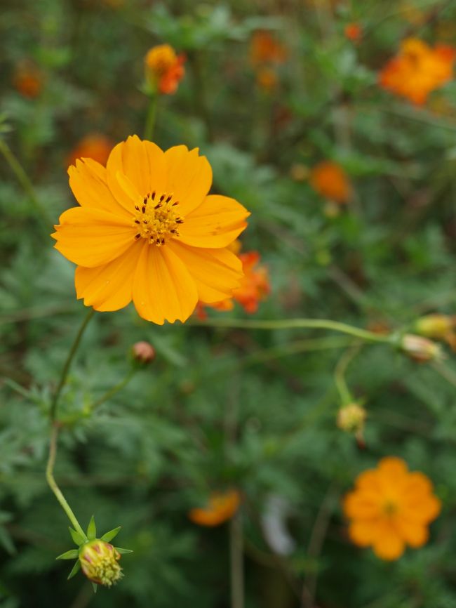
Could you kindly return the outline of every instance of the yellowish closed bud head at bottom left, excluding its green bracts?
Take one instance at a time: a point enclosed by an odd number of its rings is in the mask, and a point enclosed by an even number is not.
[[[120,553],[100,538],[86,543],[79,552],[83,573],[93,583],[107,587],[112,586],[123,576],[119,566],[120,558]]]

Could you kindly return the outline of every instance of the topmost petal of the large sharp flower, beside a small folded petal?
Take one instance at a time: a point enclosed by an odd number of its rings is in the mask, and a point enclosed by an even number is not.
[[[166,192],[167,168],[163,151],[154,143],[130,136],[117,144],[107,160],[107,183],[114,197],[126,209],[133,211],[132,200],[119,184],[118,174],[138,190],[141,197],[148,192]]]

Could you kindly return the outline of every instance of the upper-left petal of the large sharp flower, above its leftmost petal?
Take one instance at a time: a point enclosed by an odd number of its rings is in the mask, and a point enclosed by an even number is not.
[[[100,163],[92,159],[78,159],[76,166],[69,166],[68,175],[69,187],[81,206],[127,216],[126,210],[112,196],[107,185],[106,169]]]

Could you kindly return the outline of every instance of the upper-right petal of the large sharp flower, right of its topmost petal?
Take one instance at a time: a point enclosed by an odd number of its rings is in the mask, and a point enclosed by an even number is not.
[[[198,148],[189,151],[185,145],[166,150],[165,159],[168,166],[165,190],[179,201],[177,209],[180,216],[185,217],[208,194],[212,185],[212,169],[206,157],[198,155]]]

